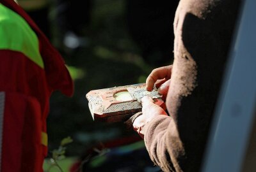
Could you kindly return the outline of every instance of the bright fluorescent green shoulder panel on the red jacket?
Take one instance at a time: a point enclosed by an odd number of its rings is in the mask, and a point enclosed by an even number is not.
[[[26,55],[41,68],[44,62],[39,52],[39,41],[24,18],[0,3],[0,49]]]

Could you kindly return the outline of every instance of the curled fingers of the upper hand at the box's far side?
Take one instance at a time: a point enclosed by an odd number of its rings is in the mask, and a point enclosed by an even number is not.
[[[156,85],[158,92],[165,97],[169,89],[171,76],[172,65],[154,69],[147,77],[147,90],[151,91]]]

